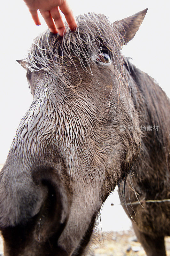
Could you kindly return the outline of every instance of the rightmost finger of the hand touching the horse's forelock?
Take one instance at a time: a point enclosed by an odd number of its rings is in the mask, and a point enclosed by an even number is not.
[[[71,30],[74,30],[77,28],[77,22],[74,18],[73,12],[68,4],[68,2],[65,0],[61,6],[59,6],[61,12],[64,13],[64,16],[66,18],[66,21],[68,23],[68,26]]]

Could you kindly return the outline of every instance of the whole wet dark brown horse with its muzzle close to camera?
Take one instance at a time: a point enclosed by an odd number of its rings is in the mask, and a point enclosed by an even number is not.
[[[86,255],[116,185],[147,255],[166,255],[170,102],[121,52],[146,12],[79,15],[18,60],[33,102],[0,172],[4,256]]]

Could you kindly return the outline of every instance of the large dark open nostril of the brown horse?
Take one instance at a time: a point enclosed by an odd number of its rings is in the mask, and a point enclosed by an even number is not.
[[[40,212],[37,214],[37,224],[35,227],[35,239],[38,242],[45,242],[51,236],[60,236],[66,223],[66,195],[63,200],[63,189],[48,180],[42,181],[47,187],[47,196],[43,202]]]

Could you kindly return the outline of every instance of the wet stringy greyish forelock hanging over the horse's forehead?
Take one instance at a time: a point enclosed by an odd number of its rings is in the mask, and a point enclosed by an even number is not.
[[[49,29],[36,37],[25,59],[27,68],[31,71],[46,70],[57,75],[62,82],[67,81],[68,86],[67,66],[73,64],[76,68],[76,65],[81,65],[83,70],[91,73],[90,65],[95,63],[91,54],[96,55],[100,48],[105,47],[112,52],[112,61],[117,63],[115,67],[120,80],[123,77],[123,56],[116,25],[103,14],[88,13],[76,19],[78,28],[72,32],[66,24],[67,32],[63,38],[53,35]]]

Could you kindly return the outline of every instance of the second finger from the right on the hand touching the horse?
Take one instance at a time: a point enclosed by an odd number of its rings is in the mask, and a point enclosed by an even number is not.
[[[64,22],[62,20],[61,14],[58,10],[58,7],[54,7],[50,10],[50,14],[52,18],[54,19],[54,22],[56,24],[56,28],[58,30],[58,33],[60,36],[64,36],[66,33],[66,27],[64,25]]]

